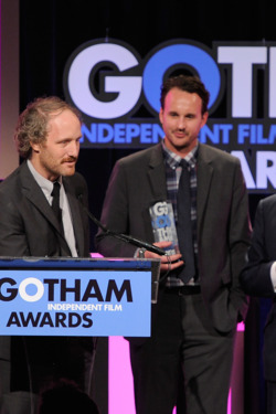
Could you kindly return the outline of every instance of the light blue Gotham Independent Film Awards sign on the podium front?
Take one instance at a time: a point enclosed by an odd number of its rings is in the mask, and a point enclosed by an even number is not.
[[[2,259],[1,336],[150,336],[152,261]]]

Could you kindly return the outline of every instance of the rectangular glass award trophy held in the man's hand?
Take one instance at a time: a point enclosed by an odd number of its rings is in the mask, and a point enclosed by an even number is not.
[[[171,242],[164,248],[166,254],[179,253],[178,235],[172,204],[169,201],[159,201],[149,208],[155,242]]]

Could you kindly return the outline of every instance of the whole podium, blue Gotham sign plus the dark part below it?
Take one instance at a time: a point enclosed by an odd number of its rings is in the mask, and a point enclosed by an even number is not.
[[[0,412],[36,413],[61,373],[95,397],[95,338],[150,336],[159,272],[159,259],[1,257]]]

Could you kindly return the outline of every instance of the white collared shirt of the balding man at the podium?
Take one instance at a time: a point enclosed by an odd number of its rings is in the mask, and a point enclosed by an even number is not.
[[[34,180],[40,185],[41,190],[43,191],[47,202],[50,205],[52,205],[52,191],[53,191],[53,182],[42,177],[33,167],[32,162],[30,160],[26,161],[28,167],[34,178]],[[63,222],[63,229],[64,229],[64,236],[67,242],[67,245],[70,246],[72,257],[77,257],[77,251],[76,251],[76,241],[74,235],[74,229],[73,229],[73,221],[72,221],[72,214],[68,205],[68,199],[66,195],[66,192],[64,190],[64,185],[62,183],[62,177],[57,180],[61,184],[61,192],[60,192],[60,206],[62,209],[62,222]]]

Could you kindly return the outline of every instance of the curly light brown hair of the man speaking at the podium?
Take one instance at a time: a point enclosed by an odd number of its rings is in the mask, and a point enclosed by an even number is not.
[[[81,113],[72,105],[57,96],[36,98],[30,103],[19,116],[14,134],[14,141],[20,157],[29,158],[32,152],[31,142],[45,141],[49,134],[49,120],[51,117],[68,109],[81,119]]]

